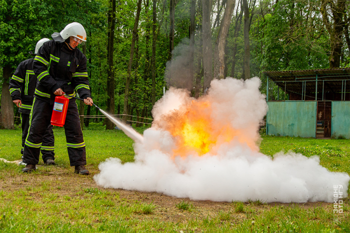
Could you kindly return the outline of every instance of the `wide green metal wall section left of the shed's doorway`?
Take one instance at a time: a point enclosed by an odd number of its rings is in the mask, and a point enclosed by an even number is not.
[[[267,102],[268,135],[315,137],[316,101]]]

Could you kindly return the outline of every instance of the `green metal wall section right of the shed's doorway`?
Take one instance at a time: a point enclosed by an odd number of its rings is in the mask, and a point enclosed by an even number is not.
[[[332,136],[350,138],[350,102],[332,101]]]

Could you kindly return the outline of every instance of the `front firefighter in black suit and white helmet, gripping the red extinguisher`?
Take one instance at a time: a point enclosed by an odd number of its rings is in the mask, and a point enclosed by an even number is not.
[[[69,99],[64,131],[70,166],[75,167],[75,173],[88,175],[84,166],[86,151],[79,113],[75,99],[70,97],[77,93],[85,104],[92,106],[86,57],[76,48],[79,43],[86,41],[86,32],[80,23],[72,22],[61,32],[53,33],[52,38],[40,47],[33,62],[38,83],[24,145],[23,163],[27,165],[22,171],[31,172],[36,169],[44,129],[50,124],[54,98],[64,94]]]

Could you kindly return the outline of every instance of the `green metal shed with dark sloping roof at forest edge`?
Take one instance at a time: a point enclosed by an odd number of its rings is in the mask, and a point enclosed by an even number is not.
[[[350,138],[350,68],[262,73],[267,135]]]

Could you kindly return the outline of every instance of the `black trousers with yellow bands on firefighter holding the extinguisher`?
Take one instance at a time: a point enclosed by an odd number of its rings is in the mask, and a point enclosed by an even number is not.
[[[28,136],[24,145],[23,163],[38,164],[40,145],[43,142],[45,130],[51,124],[52,109],[53,104],[34,98]],[[86,165],[85,143],[75,99],[69,100],[63,127],[70,166]]]

